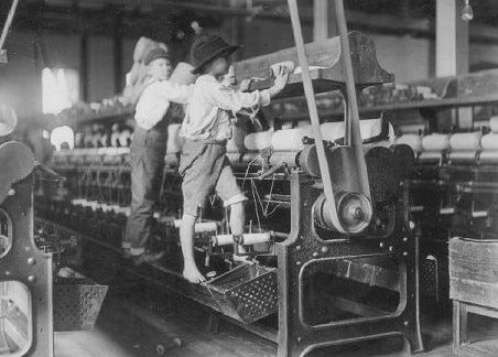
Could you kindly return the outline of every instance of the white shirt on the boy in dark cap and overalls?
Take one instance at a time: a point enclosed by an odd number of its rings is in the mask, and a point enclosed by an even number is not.
[[[164,118],[170,101],[187,104],[194,85],[180,85],[170,80],[156,80],[143,89],[137,104],[134,120],[141,128],[152,129]]]

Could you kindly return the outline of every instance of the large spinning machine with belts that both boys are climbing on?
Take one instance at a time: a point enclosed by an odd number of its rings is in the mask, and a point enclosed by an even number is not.
[[[154,215],[154,244],[166,258],[152,264],[133,267],[119,249],[130,199],[128,129],[105,122],[87,130],[75,150],[54,154],[53,169],[67,181],[39,187],[37,215],[45,227],[57,227],[61,239],[82,238],[77,269],[97,281],[110,280],[111,272],[140,275],[253,327],[278,342],[279,356],[391,336],[410,342],[413,351],[423,349],[419,246],[409,212],[414,154],[392,143],[382,118],[359,120],[356,90],[393,76],[377,63],[369,39],[347,34],[343,2],[335,4],[340,37],[304,45],[290,0],[296,46],[235,64],[238,78],[255,79],[250,90],[272,85],[275,64],[293,71],[280,96],[305,95],[311,123],[278,129],[259,116],[237,116],[227,155],[251,197],[249,225],[234,236],[229,212],[217,199],[206,206],[195,226],[195,249],[208,281],[191,284],[181,275],[178,125],[170,126]],[[331,90],[343,93],[344,122],[320,122],[314,95]],[[117,140],[98,139],[112,134]]]

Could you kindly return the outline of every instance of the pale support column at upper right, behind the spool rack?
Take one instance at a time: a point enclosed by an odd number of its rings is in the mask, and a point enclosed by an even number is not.
[[[436,0],[436,77],[468,72],[468,23],[462,20],[463,6],[463,0]],[[443,127],[472,127],[472,108],[452,112],[451,119],[441,122]]]

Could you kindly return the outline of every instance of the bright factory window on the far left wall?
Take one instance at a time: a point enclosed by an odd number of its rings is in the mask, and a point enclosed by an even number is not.
[[[44,68],[42,107],[44,113],[59,113],[79,99],[79,77],[75,69]]]

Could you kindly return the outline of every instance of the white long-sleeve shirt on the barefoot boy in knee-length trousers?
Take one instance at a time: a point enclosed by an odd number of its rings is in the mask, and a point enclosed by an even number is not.
[[[185,112],[181,136],[191,140],[228,140],[231,127],[227,111],[237,112],[241,108],[269,104],[268,89],[242,93],[224,86],[213,76],[199,76]]]

